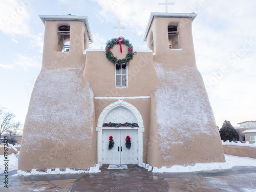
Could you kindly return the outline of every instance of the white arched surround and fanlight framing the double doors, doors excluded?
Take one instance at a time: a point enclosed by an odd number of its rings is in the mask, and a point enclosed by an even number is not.
[[[139,127],[102,127],[103,123],[138,123]],[[140,112],[129,102],[119,99],[101,112],[97,124],[97,154],[98,164],[102,165],[102,133],[103,130],[137,130],[138,133],[138,163],[143,162],[143,132],[144,125]]]

